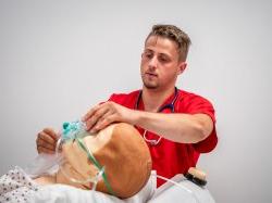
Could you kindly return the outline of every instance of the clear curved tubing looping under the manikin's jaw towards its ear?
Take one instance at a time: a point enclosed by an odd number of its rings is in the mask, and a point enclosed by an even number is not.
[[[57,157],[60,155],[60,151],[61,151],[61,147],[62,144],[65,143],[65,140],[62,139],[62,137],[58,140],[57,142],[57,147],[55,147],[55,155]],[[75,183],[81,183],[81,185],[84,185],[84,183],[92,183],[92,188],[91,190],[95,191],[96,190],[96,187],[97,187],[97,182],[102,178],[102,175],[104,173],[104,167],[102,167],[95,177],[92,178],[88,178],[86,180],[77,180],[71,176],[67,175],[67,173],[65,172],[65,169],[63,169],[62,165],[64,163],[64,158],[62,158],[62,161],[60,162],[60,172],[65,176],[65,178],[67,178],[70,181],[72,182],[75,182]]]

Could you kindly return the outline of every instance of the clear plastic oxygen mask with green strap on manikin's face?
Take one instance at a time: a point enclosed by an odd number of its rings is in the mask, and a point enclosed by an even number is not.
[[[59,164],[60,173],[70,180],[72,185],[81,185],[91,190],[96,190],[97,182],[103,179],[109,192],[113,193],[107,180],[104,167],[100,165],[85,143],[84,138],[86,136],[94,135],[85,130],[85,124],[83,122],[76,120],[63,124],[61,138],[55,148],[57,155],[61,154],[62,156]],[[78,162],[83,160],[76,156],[78,154],[87,156],[87,162],[89,163],[87,167],[76,168],[76,165],[81,165]]]

